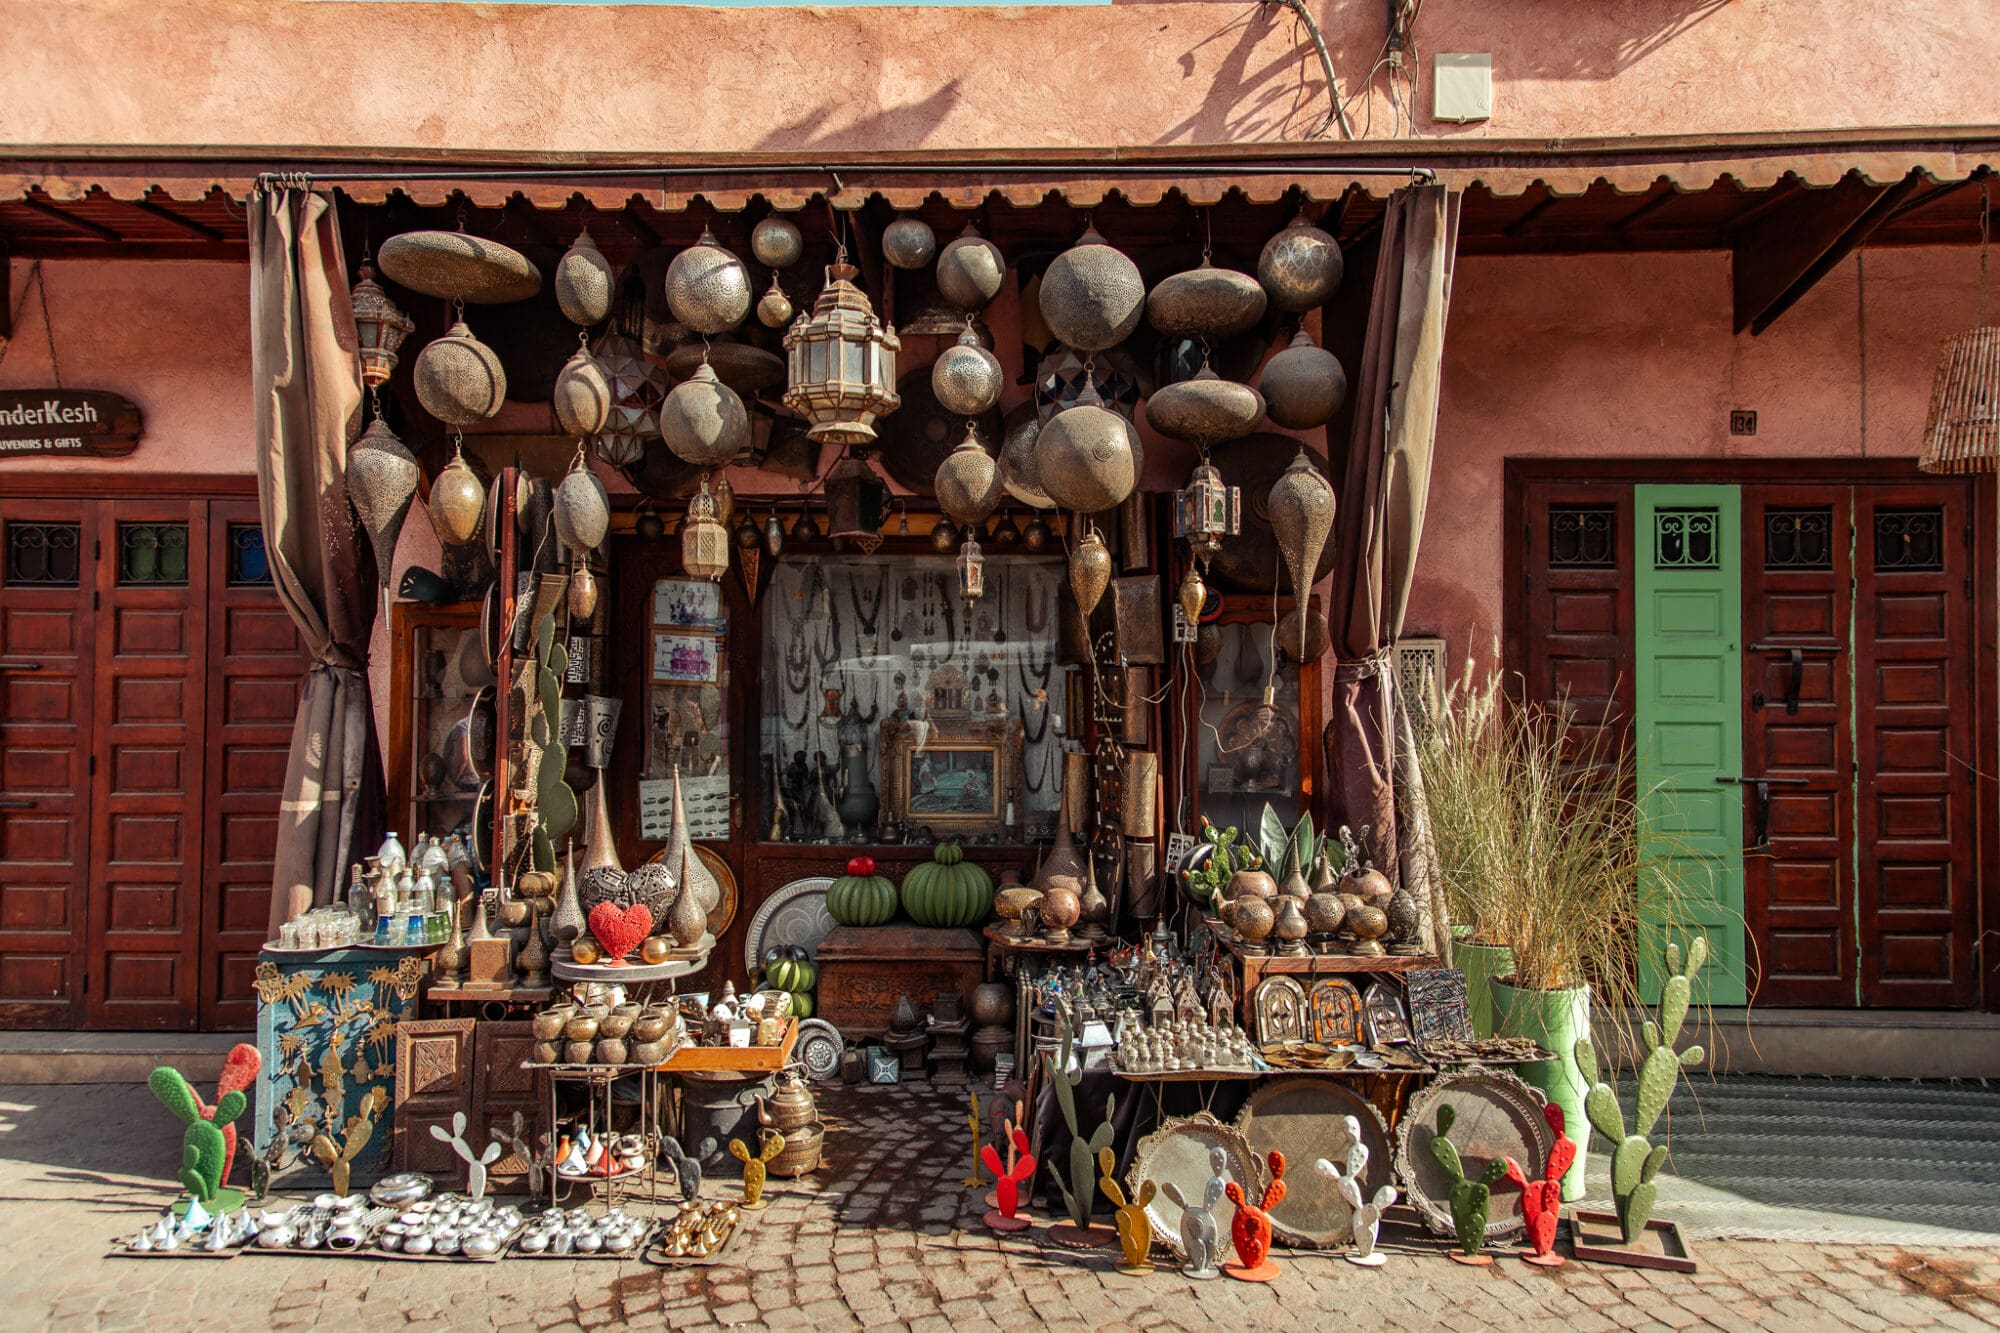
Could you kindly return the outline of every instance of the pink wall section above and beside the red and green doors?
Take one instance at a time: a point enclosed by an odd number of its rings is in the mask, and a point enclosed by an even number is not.
[[[1938,340],[1976,318],[1970,246],[1866,250],[1756,338],[1730,332],[1726,254],[1462,258],[1406,630],[1492,648],[1504,458],[1914,456]]]

